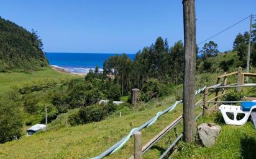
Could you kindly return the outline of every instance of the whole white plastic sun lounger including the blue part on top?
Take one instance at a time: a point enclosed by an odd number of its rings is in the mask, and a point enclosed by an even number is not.
[[[221,111],[221,114],[226,124],[242,126],[245,124],[245,122],[247,122],[250,113],[255,108],[256,101],[242,101],[241,106],[221,105],[219,106],[219,111]],[[233,113],[234,119],[229,118],[229,116],[227,116],[227,113]],[[244,114],[244,118],[237,120],[237,114]]]

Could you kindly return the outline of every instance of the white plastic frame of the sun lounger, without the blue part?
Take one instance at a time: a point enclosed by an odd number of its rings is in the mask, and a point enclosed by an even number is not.
[[[219,106],[219,111],[221,111],[221,114],[222,114],[226,124],[242,126],[245,124],[245,122],[247,122],[247,120],[250,116],[250,113],[255,108],[256,108],[256,105],[252,106],[250,108],[250,111],[244,111],[244,110],[242,110],[241,106],[221,105],[221,106]],[[227,116],[227,113],[233,113],[234,119],[229,118],[229,116]],[[237,120],[237,114],[244,114],[244,118]]]

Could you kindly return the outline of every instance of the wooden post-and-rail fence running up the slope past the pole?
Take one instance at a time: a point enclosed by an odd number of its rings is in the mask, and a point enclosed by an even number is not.
[[[227,85],[227,77],[231,75],[237,76],[237,83],[229,84]],[[219,103],[238,103],[239,101],[218,101],[220,97],[223,97],[226,95],[226,89],[228,88],[237,88],[238,92],[242,91],[243,87],[255,87],[256,84],[244,84],[245,77],[256,77],[256,74],[253,73],[244,73],[242,72],[242,67],[239,67],[238,71],[231,72],[231,73],[224,73],[223,75],[219,75],[217,77],[217,82],[215,85],[206,87],[204,90],[204,96],[201,100],[199,100],[195,107],[198,107],[199,105],[203,104],[203,112],[199,113],[199,115],[196,117],[196,119],[203,114],[205,116],[209,111],[211,111],[213,108],[217,110],[217,106]],[[209,95],[211,94],[209,90],[213,90],[213,93],[215,92],[215,97],[208,100]],[[221,93],[220,93],[221,92]],[[220,93],[220,94],[219,94]],[[213,104],[213,105],[211,105]],[[211,106],[210,106],[211,105]],[[155,135],[153,139],[151,139],[147,144],[142,146],[142,134],[141,132],[138,132],[134,134],[134,155],[132,155],[129,159],[142,159],[142,156],[145,152],[147,152],[155,143],[158,142],[167,132],[169,132],[171,129],[173,129],[178,123],[180,123],[183,120],[183,116],[179,116],[175,119],[175,121],[171,122],[167,127],[165,127],[162,131],[159,132],[159,134]],[[163,154],[160,156],[160,159],[165,157],[168,152],[176,145],[176,143],[181,139],[183,134],[181,133],[176,137],[176,139],[173,141],[173,143],[170,145],[170,147],[163,152]]]

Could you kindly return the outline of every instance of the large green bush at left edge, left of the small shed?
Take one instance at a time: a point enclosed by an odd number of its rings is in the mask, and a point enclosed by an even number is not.
[[[22,119],[19,113],[19,99],[11,94],[0,97],[0,143],[21,137]]]

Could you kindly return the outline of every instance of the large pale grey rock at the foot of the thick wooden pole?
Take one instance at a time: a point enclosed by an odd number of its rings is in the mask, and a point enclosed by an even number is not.
[[[220,132],[221,126],[217,126],[214,123],[203,123],[198,126],[199,139],[201,139],[205,147],[212,147],[215,144],[216,138]]]

